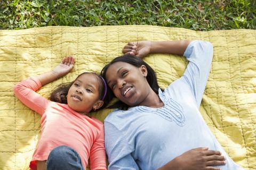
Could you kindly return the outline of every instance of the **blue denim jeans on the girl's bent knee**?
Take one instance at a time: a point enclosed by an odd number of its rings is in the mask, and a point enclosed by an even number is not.
[[[47,159],[46,168],[47,170],[84,170],[80,156],[68,146],[54,148]]]

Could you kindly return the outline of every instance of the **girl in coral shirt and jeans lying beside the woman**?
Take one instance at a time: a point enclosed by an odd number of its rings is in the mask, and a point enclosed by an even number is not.
[[[23,104],[42,116],[41,137],[29,167],[31,169],[106,169],[103,124],[89,112],[107,105],[105,80],[95,73],[82,73],[60,87],[50,101],[35,91],[69,73],[75,58],[63,58],[51,72],[30,77],[14,87]],[[55,148],[55,149],[54,149]]]

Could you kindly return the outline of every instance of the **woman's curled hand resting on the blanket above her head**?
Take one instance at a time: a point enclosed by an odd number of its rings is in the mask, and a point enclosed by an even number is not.
[[[136,55],[140,58],[147,56],[150,53],[151,41],[129,42],[123,48],[124,54]]]

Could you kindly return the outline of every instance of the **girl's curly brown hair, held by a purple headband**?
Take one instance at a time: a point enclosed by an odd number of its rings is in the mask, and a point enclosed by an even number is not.
[[[99,109],[97,109],[97,111],[99,111],[102,108],[105,108],[108,105],[109,101],[113,98],[113,95],[109,94],[110,89],[106,85],[106,81],[103,80],[103,78],[100,75],[98,75],[97,73],[93,73],[93,72],[84,72],[84,73],[78,75],[78,77],[76,79],[78,79],[83,74],[94,74],[95,77],[97,77],[97,79],[99,81],[99,89],[98,89],[99,94],[100,94],[99,98],[101,100],[103,100],[103,102],[104,102],[103,105]],[[76,79],[69,83],[60,84],[51,93],[50,100],[57,102],[57,103],[68,104],[68,101],[67,101],[68,90],[72,86],[72,84],[76,81]]]

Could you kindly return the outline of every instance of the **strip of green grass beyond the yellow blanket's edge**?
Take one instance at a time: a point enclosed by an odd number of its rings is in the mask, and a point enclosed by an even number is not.
[[[0,29],[47,25],[159,25],[192,30],[256,29],[255,0],[48,0],[0,2]]]

